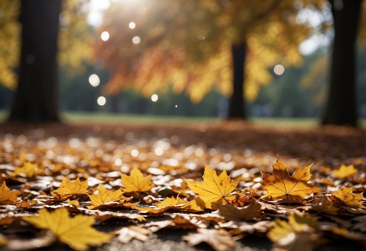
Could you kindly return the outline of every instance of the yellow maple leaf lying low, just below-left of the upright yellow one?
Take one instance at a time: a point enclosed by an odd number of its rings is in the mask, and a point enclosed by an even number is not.
[[[98,185],[98,193],[95,195],[89,195],[91,203],[89,203],[88,209],[99,209],[109,202],[127,202],[131,201],[132,197],[127,198],[123,196],[123,192],[119,189],[114,192],[110,192],[107,188]],[[136,204],[137,205],[137,204]]]

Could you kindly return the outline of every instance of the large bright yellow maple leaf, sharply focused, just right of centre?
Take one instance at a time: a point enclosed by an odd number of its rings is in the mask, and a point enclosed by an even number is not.
[[[186,181],[192,192],[199,194],[199,198],[205,203],[208,209],[217,209],[216,204],[225,205],[235,199],[235,195],[229,195],[235,190],[239,181],[233,181],[227,175],[225,169],[220,176],[216,175],[205,163],[205,172],[202,176],[203,182],[200,181]]]

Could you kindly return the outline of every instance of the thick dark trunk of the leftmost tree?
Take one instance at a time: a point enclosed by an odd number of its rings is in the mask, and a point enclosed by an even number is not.
[[[9,120],[57,121],[57,33],[61,0],[23,0],[18,90]]]

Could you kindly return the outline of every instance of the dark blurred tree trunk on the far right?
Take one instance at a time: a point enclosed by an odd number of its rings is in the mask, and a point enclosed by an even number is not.
[[[356,33],[362,0],[334,1],[330,89],[322,124],[356,126]],[[343,3],[342,3],[343,2]]]

